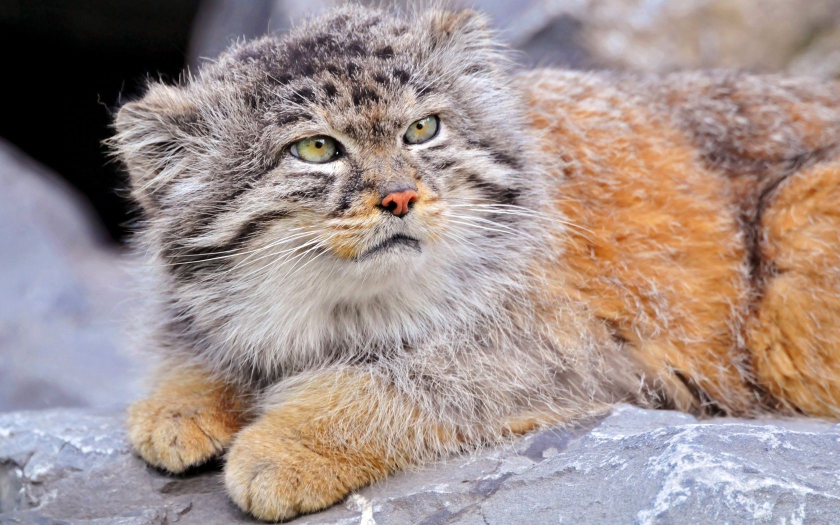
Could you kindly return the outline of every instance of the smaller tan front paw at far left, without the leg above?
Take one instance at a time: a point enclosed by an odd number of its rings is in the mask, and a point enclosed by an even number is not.
[[[128,438],[151,465],[170,472],[205,463],[221,454],[241,426],[241,414],[218,399],[173,402],[152,396],[129,407]]]

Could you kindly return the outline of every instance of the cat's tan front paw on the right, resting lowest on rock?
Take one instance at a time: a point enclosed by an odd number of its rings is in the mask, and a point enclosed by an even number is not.
[[[275,424],[245,428],[228,451],[224,481],[245,512],[262,520],[289,519],[333,505],[375,477],[358,454],[318,451]]]

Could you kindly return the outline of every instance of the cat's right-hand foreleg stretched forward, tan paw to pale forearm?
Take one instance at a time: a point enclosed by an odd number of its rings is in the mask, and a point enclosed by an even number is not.
[[[458,448],[451,428],[364,370],[291,380],[283,399],[244,428],[225,484],[244,511],[288,519],[341,500],[390,472]]]

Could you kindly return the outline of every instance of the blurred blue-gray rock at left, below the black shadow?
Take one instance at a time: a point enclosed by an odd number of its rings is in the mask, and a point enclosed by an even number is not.
[[[135,395],[121,328],[125,255],[50,171],[0,142],[0,412],[121,407]]]

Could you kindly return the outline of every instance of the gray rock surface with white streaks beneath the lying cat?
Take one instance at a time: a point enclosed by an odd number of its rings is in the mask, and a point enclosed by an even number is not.
[[[165,475],[130,453],[122,418],[0,415],[0,523],[251,522],[218,465]],[[832,523],[840,425],[699,423],[619,406],[579,428],[449,459],[365,487],[294,523]]]

